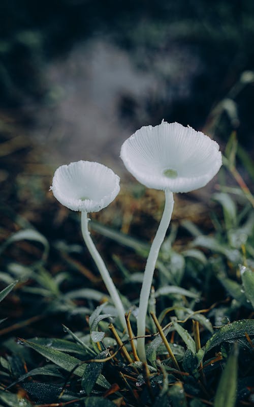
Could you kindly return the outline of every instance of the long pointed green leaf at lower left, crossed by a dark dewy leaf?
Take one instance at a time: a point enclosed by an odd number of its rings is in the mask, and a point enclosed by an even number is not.
[[[22,341],[25,343],[26,346],[29,346],[30,348],[34,349],[34,351],[38,352],[42,356],[44,356],[46,359],[49,359],[51,362],[55,363],[57,366],[60,366],[62,369],[65,369],[69,372],[71,372],[76,366],[77,368],[74,371],[74,374],[78,376],[83,376],[83,373],[86,369],[86,364],[82,364],[79,366],[79,363],[81,362],[79,359],[74,358],[73,356],[67,355],[63,352],[56,351],[55,349],[52,349],[47,346],[39,345],[35,342],[29,342],[27,340],[22,339]],[[100,376],[98,379],[98,384],[105,389],[108,389],[110,387],[110,384],[108,381],[105,379],[105,377]]]

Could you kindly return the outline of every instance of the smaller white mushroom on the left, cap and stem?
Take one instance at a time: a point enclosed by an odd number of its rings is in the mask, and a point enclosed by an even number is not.
[[[58,167],[50,189],[62,205],[81,212],[81,230],[85,244],[101,273],[121,325],[125,329],[122,302],[105,263],[92,242],[87,218],[87,213],[98,212],[115,199],[120,190],[119,181],[120,178],[105,165],[80,160]]]

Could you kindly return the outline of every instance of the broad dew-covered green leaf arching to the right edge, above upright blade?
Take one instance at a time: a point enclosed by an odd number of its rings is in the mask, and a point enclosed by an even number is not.
[[[242,321],[235,321],[219,328],[218,332],[206,342],[205,353],[223,342],[234,342],[236,339],[245,336],[245,332],[249,336],[254,335],[253,319],[242,319]]]

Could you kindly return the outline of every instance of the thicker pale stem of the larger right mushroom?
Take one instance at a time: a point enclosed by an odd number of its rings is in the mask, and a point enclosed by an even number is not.
[[[156,260],[158,257],[158,253],[160,251],[161,245],[164,241],[166,231],[169,227],[173,206],[174,206],[174,199],[173,193],[169,189],[165,189],[165,208],[163,212],[163,216],[158,226],[156,235],[153,239],[150,252],[146,261],[145,273],[140,293],[140,300],[139,300],[139,313],[137,318],[137,326],[138,326],[138,355],[142,362],[146,362],[146,354],[145,354],[145,320],[146,320],[146,313],[148,308],[148,300],[151,291],[152,285],[152,277],[155,269]]]

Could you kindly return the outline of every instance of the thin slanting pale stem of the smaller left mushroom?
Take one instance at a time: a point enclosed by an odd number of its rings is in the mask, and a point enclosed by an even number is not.
[[[112,278],[110,277],[110,274],[105,266],[105,263],[104,263],[101,255],[99,254],[96,246],[94,245],[93,241],[91,240],[90,232],[88,230],[88,218],[87,218],[86,211],[81,212],[81,230],[82,230],[82,235],[83,235],[85,244],[87,246],[87,249],[89,250],[90,255],[92,256],[92,258],[94,260],[94,263],[96,263],[96,265],[101,273],[102,279],[107,287],[111,300],[118,312],[118,317],[121,321],[121,325],[122,325],[123,329],[127,330],[125,316],[124,316],[125,311],[123,309],[123,305],[120,300],[119,294],[116,290],[116,287],[113,283]]]

